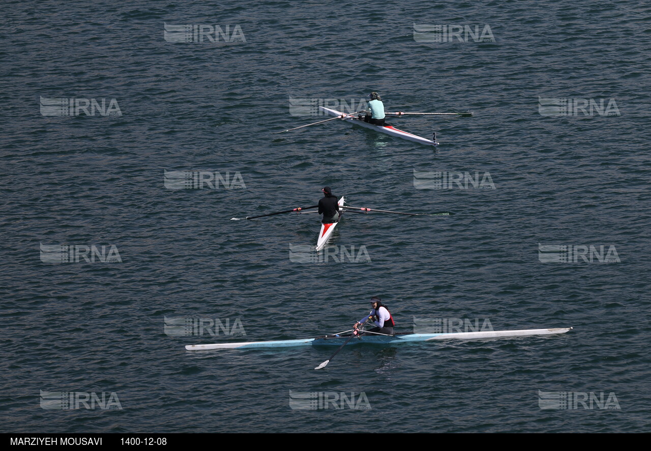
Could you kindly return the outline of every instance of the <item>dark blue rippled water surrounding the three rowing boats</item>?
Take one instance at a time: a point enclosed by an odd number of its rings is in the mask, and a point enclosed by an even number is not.
[[[648,432],[648,5],[7,1],[4,12],[3,431]],[[167,42],[165,23],[240,25],[245,42]],[[494,42],[420,42],[414,24],[489,25]],[[292,116],[290,98],[371,90],[388,111],[475,116],[391,119],[436,131],[436,151],[339,121],[272,134],[321,119]],[[116,99],[121,115],[44,116],[41,97]],[[541,97],[614,99],[618,114],[544,116]],[[488,173],[495,189],[420,189],[414,170]],[[245,187],[171,190],[165,171],[239,172]],[[230,220],[314,205],[324,185],[350,205],[456,214],[347,214],[331,244],[363,247],[357,263],[292,261],[290,245],[316,243],[316,215]],[[62,244],[115,246],[120,261],[42,261],[40,245]],[[539,244],[617,258],[542,263]],[[353,346],[320,371],[333,350],[184,349],[342,331],[372,295],[402,331],[414,316],[574,330]],[[238,320],[245,335],[170,336],[165,316]],[[41,391],[115,393],[121,409],[42,409]],[[296,410],[290,391],[363,394],[371,408]],[[541,409],[539,391],[614,393],[619,408]]]

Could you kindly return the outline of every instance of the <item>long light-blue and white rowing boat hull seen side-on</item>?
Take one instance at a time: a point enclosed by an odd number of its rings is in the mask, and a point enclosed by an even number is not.
[[[388,335],[363,335],[352,339],[350,344],[400,344],[408,342],[426,342],[435,340],[478,340],[503,337],[527,337],[529,335],[552,335],[566,333],[572,328],[557,329],[524,329],[524,330],[499,330],[479,332],[450,332],[450,333],[398,333]],[[326,335],[313,339],[281,340],[281,341],[249,341],[239,343],[217,344],[192,344],[186,346],[188,351],[214,350],[214,349],[265,349],[265,348],[294,348],[296,346],[341,346],[350,335]]]

